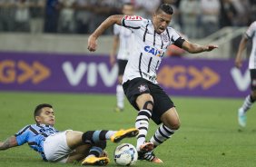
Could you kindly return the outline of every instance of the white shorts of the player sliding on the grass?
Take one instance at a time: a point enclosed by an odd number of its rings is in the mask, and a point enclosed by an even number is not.
[[[72,130],[68,130],[72,131]],[[44,141],[44,154],[49,162],[62,162],[65,163],[69,154],[73,152],[66,142],[66,133],[55,133],[48,136]]]

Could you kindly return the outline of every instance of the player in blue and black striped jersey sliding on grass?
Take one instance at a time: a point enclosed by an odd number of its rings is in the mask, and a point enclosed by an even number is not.
[[[106,165],[109,162],[103,152],[106,140],[120,142],[125,137],[135,137],[139,133],[135,128],[86,133],[72,130],[59,132],[54,128],[54,109],[47,103],[36,106],[34,121],[35,124],[26,125],[5,142],[0,142],[0,151],[28,143],[35,152],[40,153],[44,161],[82,161],[83,165]]]

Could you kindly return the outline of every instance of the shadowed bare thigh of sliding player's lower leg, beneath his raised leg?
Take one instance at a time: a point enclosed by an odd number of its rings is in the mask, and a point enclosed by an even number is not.
[[[75,148],[74,152],[72,152],[68,159],[67,162],[75,162],[75,161],[81,161],[83,160],[89,153],[91,148],[91,145],[85,144],[85,145],[80,145],[77,148]]]

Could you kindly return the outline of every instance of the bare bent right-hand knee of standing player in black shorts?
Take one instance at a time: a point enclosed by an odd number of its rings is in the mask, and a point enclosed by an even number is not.
[[[167,112],[162,113],[161,121],[165,126],[172,130],[179,129],[181,125],[179,114],[177,113],[175,107],[172,107]]]

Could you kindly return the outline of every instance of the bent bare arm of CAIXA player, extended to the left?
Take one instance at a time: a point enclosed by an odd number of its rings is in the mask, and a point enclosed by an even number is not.
[[[94,52],[97,49],[97,38],[111,25],[122,25],[121,21],[124,15],[111,15],[98,26],[98,28],[88,38],[88,50]]]

